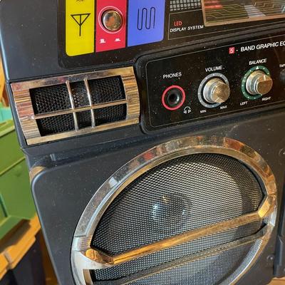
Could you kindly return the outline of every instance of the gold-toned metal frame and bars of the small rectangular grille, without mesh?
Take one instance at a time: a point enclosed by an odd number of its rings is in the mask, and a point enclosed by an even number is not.
[[[90,99],[90,90],[88,80],[108,78],[112,76],[120,76],[125,88],[125,100],[117,100],[110,103],[101,103],[92,105]],[[89,106],[83,108],[75,108],[70,83],[83,81],[86,86]],[[58,84],[66,84],[69,93],[69,100],[71,102],[71,109],[56,111],[53,113],[46,113],[35,115],[33,112],[33,105],[31,102],[30,89],[41,88],[45,86],[54,86]],[[96,133],[104,130],[120,128],[127,125],[134,125],[139,123],[140,116],[140,95],[138,92],[138,84],[135,78],[133,67],[109,69],[106,71],[94,71],[90,73],[80,73],[71,76],[58,76],[53,78],[44,78],[35,81],[26,81],[20,83],[11,83],[11,89],[14,95],[15,105],[21,128],[23,130],[26,142],[28,145],[34,145],[43,142],[50,142],[53,140],[62,140],[71,138],[77,135],[86,135],[88,133]],[[120,120],[115,123],[107,123],[104,125],[95,126],[94,109],[110,107],[113,105],[127,105],[127,116],[125,120]],[[90,128],[78,129],[78,122],[76,113],[90,110],[92,125]],[[41,136],[36,120],[41,118],[53,117],[56,115],[73,114],[75,130],[58,133],[54,135]]]

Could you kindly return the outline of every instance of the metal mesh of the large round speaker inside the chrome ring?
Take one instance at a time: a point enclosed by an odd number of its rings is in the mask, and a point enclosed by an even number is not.
[[[95,230],[91,247],[111,255],[120,254],[254,212],[263,197],[257,177],[232,157],[178,157],[145,172],[115,198]],[[262,222],[254,222],[228,229],[110,269],[92,271],[91,276],[93,281],[111,284],[113,280],[255,234],[261,227]],[[252,247],[254,243],[219,252],[130,284],[219,284],[237,269]]]

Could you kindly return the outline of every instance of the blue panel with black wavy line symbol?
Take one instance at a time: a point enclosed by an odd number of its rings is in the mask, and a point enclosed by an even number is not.
[[[128,46],[162,41],[165,0],[129,0]]]

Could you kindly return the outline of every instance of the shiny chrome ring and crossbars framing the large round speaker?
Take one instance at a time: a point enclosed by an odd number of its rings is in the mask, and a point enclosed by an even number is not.
[[[95,195],[93,195],[93,198],[90,200],[86,209],[81,215],[81,219],[78,222],[76,232],[73,237],[73,244],[71,249],[71,266],[73,269],[73,276],[76,281],[76,284],[93,284],[90,277],[90,270],[92,269],[104,269],[133,259],[133,257],[128,256],[127,253],[127,255],[125,256],[125,260],[116,264],[114,262],[114,264],[112,264],[112,257],[108,257],[102,252],[90,249],[90,242],[93,238],[93,233],[95,232],[95,229],[98,226],[98,222],[100,221],[100,218],[103,216],[105,210],[108,208],[110,203],[113,202],[115,197],[117,197],[120,192],[122,192],[125,187],[130,184],[130,182],[133,182],[136,178],[138,178],[147,170],[150,170],[153,167],[160,165],[163,162],[166,162],[167,160],[172,160],[176,157],[193,155],[197,153],[216,153],[221,155],[227,155],[229,157],[234,157],[235,159],[247,165],[247,167],[249,167],[249,169],[251,169],[255,173],[255,175],[259,177],[259,180],[264,186],[266,197],[264,198],[264,201],[261,203],[261,206],[259,207],[257,212],[253,212],[229,221],[225,221],[222,225],[222,229],[219,229],[220,232],[222,230],[233,227],[233,224],[231,224],[231,222],[234,220],[236,224],[237,220],[241,222],[240,224],[249,224],[254,219],[264,220],[266,218],[266,227],[261,229],[259,234],[250,237],[252,238],[250,240],[235,241],[237,243],[235,246],[239,246],[241,245],[241,243],[256,243],[254,245],[254,249],[252,249],[254,250],[254,252],[248,255],[247,259],[245,259],[239,266],[239,268],[234,271],[234,274],[229,276],[229,279],[227,279],[227,284],[234,284],[249,270],[249,268],[252,266],[254,261],[257,260],[262,250],[266,246],[267,242],[269,241],[269,238],[271,237],[271,232],[275,226],[276,182],[274,175],[271,172],[269,165],[266,164],[264,159],[257,152],[252,150],[252,148],[248,147],[247,145],[244,145],[242,142],[229,138],[197,136],[171,140],[170,142],[165,142],[162,145],[158,145],[148,150],[147,152],[142,153],[142,155],[135,157],[133,160],[121,167],[120,170],[115,172],[115,174],[110,177],[99,188],[98,191],[95,192]],[[152,158],[147,159],[146,157]],[[211,226],[217,227],[217,225],[218,224],[213,224]],[[212,229],[200,228],[198,229],[198,234],[201,234],[201,231],[204,231],[204,234],[202,234],[202,236],[206,236],[213,233]],[[190,234],[193,235],[192,231]],[[195,238],[196,236],[193,239]],[[138,252],[139,250],[140,249],[135,249],[133,252]],[[158,250],[160,249],[157,249],[157,251]],[[221,249],[212,249],[212,251],[215,250],[217,251]],[[133,254],[133,252],[131,252],[131,254]],[[210,254],[210,252],[204,252],[204,254]],[[142,255],[138,254],[138,257],[140,256]],[[141,279],[140,276],[137,277],[137,279]],[[131,281],[133,281],[133,279]],[[129,282],[130,280],[118,280],[117,283],[114,284],[128,284]],[[98,282],[98,284],[105,283]]]

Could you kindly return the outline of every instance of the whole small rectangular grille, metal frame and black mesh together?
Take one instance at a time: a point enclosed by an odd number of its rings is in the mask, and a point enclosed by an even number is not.
[[[11,86],[28,145],[138,123],[133,68]]]

